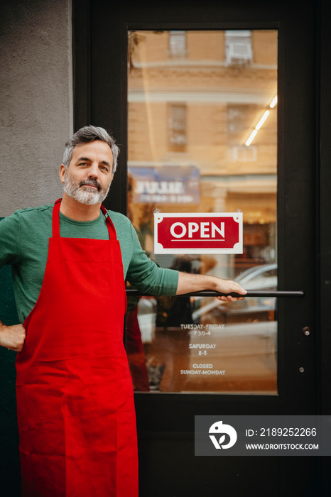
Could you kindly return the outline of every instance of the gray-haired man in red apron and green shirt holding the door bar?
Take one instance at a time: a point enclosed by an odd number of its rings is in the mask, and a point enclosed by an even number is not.
[[[0,223],[0,266],[12,266],[21,320],[0,322],[0,345],[19,352],[23,496],[138,495],[125,278],[154,295],[246,293],[232,281],[158,268],[146,256],[129,219],[102,206],[118,152],[104,129],[80,129],[60,165],[62,200]]]

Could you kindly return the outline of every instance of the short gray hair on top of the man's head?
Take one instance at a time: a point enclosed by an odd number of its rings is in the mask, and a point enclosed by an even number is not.
[[[115,140],[109,133],[99,126],[84,126],[79,129],[70,140],[65,143],[65,152],[63,153],[63,165],[65,170],[69,167],[72,158],[72,152],[75,146],[82,145],[82,143],[89,143],[89,141],[100,140],[108,143],[113,154],[113,170],[114,174],[117,167],[117,156],[119,155],[119,147],[116,145]]]

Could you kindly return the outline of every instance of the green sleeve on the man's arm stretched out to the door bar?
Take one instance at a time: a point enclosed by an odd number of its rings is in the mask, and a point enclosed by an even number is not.
[[[130,223],[131,224],[131,223]],[[178,271],[160,268],[141,249],[139,239],[131,224],[132,257],[127,280],[142,293],[151,295],[175,295],[178,287]]]

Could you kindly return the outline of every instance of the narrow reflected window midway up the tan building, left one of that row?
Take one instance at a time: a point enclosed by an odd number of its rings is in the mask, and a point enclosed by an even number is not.
[[[186,151],[186,106],[184,104],[169,105],[168,136],[170,152]]]

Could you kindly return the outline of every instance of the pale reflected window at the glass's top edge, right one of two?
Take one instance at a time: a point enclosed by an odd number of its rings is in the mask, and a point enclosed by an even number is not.
[[[225,31],[225,57],[227,65],[252,62],[251,31]]]

